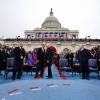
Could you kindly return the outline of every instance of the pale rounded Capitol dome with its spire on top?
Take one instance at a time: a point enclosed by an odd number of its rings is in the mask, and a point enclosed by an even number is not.
[[[50,11],[50,16],[43,22],[42,28],[61,28],[61,24],[58,19],[53,16],[52,8]]]

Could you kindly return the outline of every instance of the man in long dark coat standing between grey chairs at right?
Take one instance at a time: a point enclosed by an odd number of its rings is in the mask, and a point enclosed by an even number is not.
[[[88,59],[91,57],[91,54],[88,49],[84,48],[83,44],[80,45],[77,57],[81,67],[82,79],[89,79]]]

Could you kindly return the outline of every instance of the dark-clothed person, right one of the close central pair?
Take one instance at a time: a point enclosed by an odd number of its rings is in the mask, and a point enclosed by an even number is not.
[[[49,45],[47,45],[47,50],[46,50],[46,63],[48,66],[48,78],[52,78],[52,71],[51,71],[51,66],[54,58],[54,51],[52,48],[50,48]]]

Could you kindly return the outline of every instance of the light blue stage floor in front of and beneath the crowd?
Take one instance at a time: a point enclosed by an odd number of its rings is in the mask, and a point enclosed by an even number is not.
[[[0,76],[0,100],[100,100],[100,80],[96,74],[90,80],[82,80],[77,73],[63,73],[63,78],[52,66],[53,78],[34,79],[34,73],[24,73],[21,80],[7,80]]]

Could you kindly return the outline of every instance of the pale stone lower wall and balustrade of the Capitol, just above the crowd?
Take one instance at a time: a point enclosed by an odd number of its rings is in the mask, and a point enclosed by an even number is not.
[[[33,50],[34,48],[38,48],[41,46],[41,40],[27,40],[27,39],[6,39],[2,41],[2,44],[5,44],[10,47],[16,47],[20,43],[23,43],[26,51]],[[58,53],[61,53],[64,50],[71,50],[72,52],[76,52],[79,49],[80,44],[84,44],[87,49],[91,49],[93,47],[100,45],[100,40],[85,40],[85,39],[77,39],[77,40],[62,40],[62,41],[45,41],[46,44],[55,46],[57,48]]]

